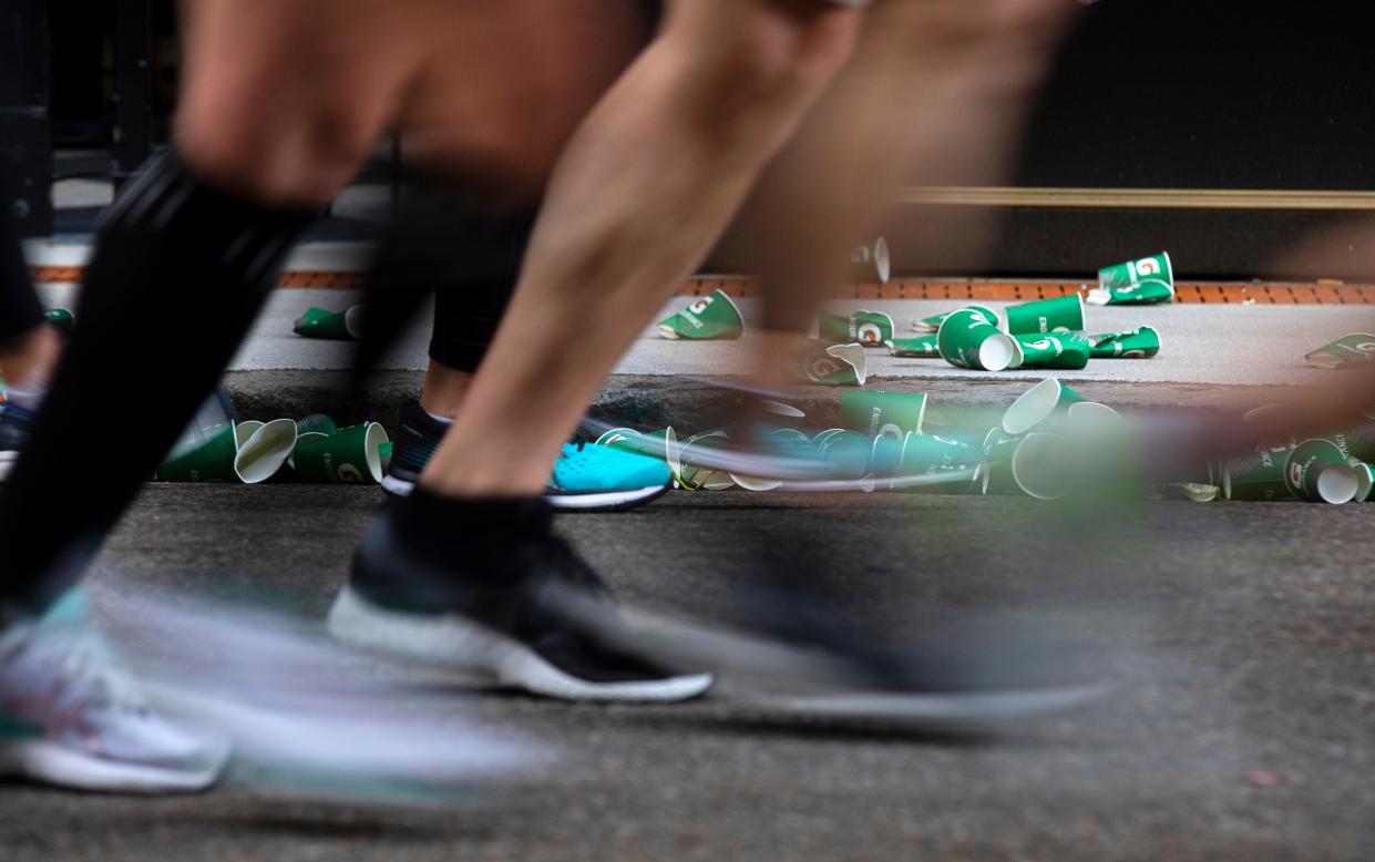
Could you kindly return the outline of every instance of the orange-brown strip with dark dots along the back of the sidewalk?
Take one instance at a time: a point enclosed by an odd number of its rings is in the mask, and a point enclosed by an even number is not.
[[[81,267],[33,267],[37,283],[80,282]],[[282,275],[280,287],[314,287],[319,290],[356,290],[362,287],[360,272],[294,271]],[[887,285],[843,283],[836,286],[837,300],[940,300],[940,301],[1006,301],[1030,302],[1062,297],[1085,290],[1082,282],[1018,282],[984,279],[898,279]],[[725,290],[732,297],[756,297],[759,286],[748,278],[705,276],[683,283],[678,296],[707,296]],[[1174,287],[1176,302],[1206,305],[1375,305],[1375,285],[1346,285],[1323,280],[1317,283],[1224,283],[1181,282]]]

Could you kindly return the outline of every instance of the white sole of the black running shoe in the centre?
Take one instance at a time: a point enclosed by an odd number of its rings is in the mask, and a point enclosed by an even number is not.
[[[378,608],[349,587],[330,609],[329,630],[340,641],[463,672],[500,685],[573,701],[676,703],[711,687],[711,674],[646,682],[588,682],[558,670],[520,641],[455,613],[422,616]]]

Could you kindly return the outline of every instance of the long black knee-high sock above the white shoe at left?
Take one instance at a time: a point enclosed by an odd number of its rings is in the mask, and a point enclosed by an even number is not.
[[[312,217],[209,188],[175,151],[110,209],[81,324],[0,495],[0,598],[41,609],[80,575],[213,390]]]

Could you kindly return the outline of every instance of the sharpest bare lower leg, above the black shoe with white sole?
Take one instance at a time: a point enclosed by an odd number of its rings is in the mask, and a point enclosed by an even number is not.
[[[686,0],[569,142],[510,311],[421,484],[544,488],[616,359],[847,62],[861,12]]]

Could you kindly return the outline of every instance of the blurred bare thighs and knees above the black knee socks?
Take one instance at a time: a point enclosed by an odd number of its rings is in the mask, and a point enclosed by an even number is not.
[[[275,203],[319,205],[389,128],[407,153],[536,197],[644,40],[635,0],[186,0],[183,155]]]

